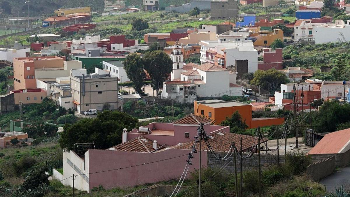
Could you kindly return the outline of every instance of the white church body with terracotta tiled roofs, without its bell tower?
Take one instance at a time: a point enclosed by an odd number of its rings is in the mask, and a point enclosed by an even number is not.
[[[182,103],[193,102],[198,97],[241,96],[242,87],[236,84],[237,73],[211,63],[183,66],[180,79],[163,82],[163,98]]]

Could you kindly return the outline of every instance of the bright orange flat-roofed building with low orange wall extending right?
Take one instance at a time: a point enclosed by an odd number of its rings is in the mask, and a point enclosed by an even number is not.
[[[252,118],[252,105],[239,101],[206,100],[194,102],[195,115],[204,116],[218,125],[236,111],[248,129],[283,124],[284,118]]]

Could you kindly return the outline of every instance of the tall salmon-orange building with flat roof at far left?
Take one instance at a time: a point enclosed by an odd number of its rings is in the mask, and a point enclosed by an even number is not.
[[[57,56],[18,57],[13,59],[14,89],[36,88],[35,69],[62,68],[63,59]]]

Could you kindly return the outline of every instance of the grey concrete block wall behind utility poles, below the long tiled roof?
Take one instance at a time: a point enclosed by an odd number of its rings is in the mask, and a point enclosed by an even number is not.
[[[227,152],[216,152],[218,156],[221,156],[222,158],[227,154]],[[247,153],[243,153],[244,156],[247,155]],[[233,157],[233,155],[232,155]],[[231,159],[229,159],[231,160]],[[229,161],[228,160],[228,161]],[[284,155],[280,155],[280,163],[284,163]],[[228,161],[221,161],[214,157],[210,152],[208,152],[208,166],[211,168],[221,168],[223,167]],[[268,168],[272,165],[277,164],[277,155],[274,154],[262,154],[260,156],[261,166],[262,168]],[[240,157],[236,155],[236,165],[237,165],[237,171],[240,171]],[[258,168],[258,154],[254,153],[251,157],[243,158],[243,171],[244,170],[253,170]],[[229,162],[228,165],[226,165],[225,170],[233,173],[235,172],[235,163],[233,159]]]

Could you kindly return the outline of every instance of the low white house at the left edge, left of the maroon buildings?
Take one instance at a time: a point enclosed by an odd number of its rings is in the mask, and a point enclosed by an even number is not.
[[[30,48],[23,47],[20,43],[15,43],[12,48],[0,48],[0,60],[13,62],[13,58],[26,57]]]

